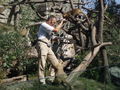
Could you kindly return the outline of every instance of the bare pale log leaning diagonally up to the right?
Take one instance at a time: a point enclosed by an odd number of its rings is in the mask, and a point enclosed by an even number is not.
[[[92,60],[95,58],[95,56],[99,52],[100,48],[103,46],[106,46],[106,45],[111,45],[111,44],[112,44],[111,42],[102,43],[99,46],[95,47],[93,50],[91,50],[86,55],[86,57],[81,62],[81,64],[70,73],[70,75],[67,77],[66,81],[71,83],[75,78],[77,78],[79,75],[81,75],[86,70],[86,68],[89,66],[89,64],[92,62]]]

